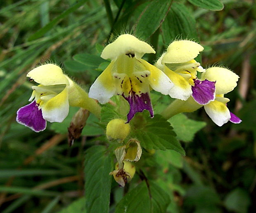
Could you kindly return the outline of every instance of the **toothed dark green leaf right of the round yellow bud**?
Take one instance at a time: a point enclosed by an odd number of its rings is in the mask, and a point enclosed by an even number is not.
[[[143,114],[137,114],[132,122],[135,126],[133,129],[134,137],[140,141],[142,147],[149,150],[175,150],[185,155],[183,147],[175,137],[176,134],[172,130],[171,124],[166,119],[161,115],[155,115],[154,118],[147,115],[143,118]]]

